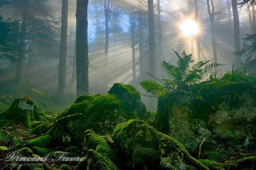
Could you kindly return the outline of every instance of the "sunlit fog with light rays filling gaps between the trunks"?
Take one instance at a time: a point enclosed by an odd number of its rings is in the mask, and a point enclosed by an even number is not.
[[[243,38],[246,34],[253,33],[247,6],[239,7],[240,33],[234,33],[232,8],[230,20],[228,19],[227,2],[229,0],[214,0],[214,25],[217,48],[217,63],[224,64],[220,67],[217,76],[223,76],[226,72],[232,71],[235,62],[235,42],[234,35],[240,34],[240,44],[243,48]],[[156,3],[156,2],[154,2]],[[230,1],[231,3],[231,1]],[[60,17],[62,10],[61,0],[49,0],[47,3],[54,9],[54,17],[58,24],[54,24],[51,32],[54,37],[51,43],[44,45],[34,45],[37,43],[27,40],[27,53],[23,62],[22,82],[29,83],[35,88],[46,91],[46,93],[56,94],[58,92],[58,63],[60,58]],[[89,41],[89,94],[106,94],[115,82],[130,83],[134,85],[141,94],[146,92],[141,88],[139,82],[151,79],[145,72],[150,72],[149,68],[149,40],[148,40],[148,17],[147,2],[144,0],[112,0],[109,19],[109,50],[107,59],[105,52],[105,17],[104,1],[89,0],[88,6],[88,41]],[[201,60],[213,59],[211,22],[207,11],[207,3],[198,0],[198,32],[194,35],[184,32],[191,31],[191,25],[182,25],[186,19],[195,18],[194,0],[162,0],[161,6],[161,31],[162,31],[162,55],[159,55],[159,37],[157,22],[157,5],[155,4],[155,33],[156,33],[156,66],[158,79],[162,79],[164,72],[160,63],[165,60],[172,65],[178,61],[178,57],[172,51],[193,54],[193,59],[198,61],[197,41],[201,42]],[[130,27],[130,11],[135,11],[134,27],[134,48],[136,79],[133,80],[133,58],[132,41]],[[251,11],[253,13],[253,11]],[[254,11],[255,12],[255,11]],[[76,95],[76,85],[71,85],[71,75],[73,70],[73,56],[76,41],[76,1],[69,1],[68,7],[68,37],[67,37],[67,64],[66,64],[66,93]],[[139,21],[139,14],[142,20]],[[3,6],[0,8],[3,18],[13,18],[21,20],[21,12],[17,8]],[[139,22],[143,24],[143,47],[139,46]],[[186,27],[182,29],[181,27]],[[35,36],[33,34],[32,36]],[[33,47],[33,48],[32,48]],[[140,49],[143,49],[140,56]],[[30,59],[32,58],[32,60]],[[241,61],[245,58],[241,57]],[[16,64],[13,61],[1,62],[1,69],[6,70],[1,76],[1,80],[12,80],[15,78]],[[32,62],[32,63],[31,63]],[[205,77],[207,80],[208,77]],[[149,98],[141,96],[146,105]]]

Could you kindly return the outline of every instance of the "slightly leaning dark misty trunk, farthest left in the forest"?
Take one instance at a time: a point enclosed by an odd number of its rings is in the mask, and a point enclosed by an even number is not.
[[[21,23],[21,33],[19,39],[19,49],[18,49],[18,59],[17,59],[17,67],[16,67],[16,77],[15,81],[17,83],[21,82],[21,74],[23,67],[23,60],[25,59],[25,50],[26,50],[26,31],[28,25],[28,0],[23,0],[23,13],[22,13],[22,23]]]

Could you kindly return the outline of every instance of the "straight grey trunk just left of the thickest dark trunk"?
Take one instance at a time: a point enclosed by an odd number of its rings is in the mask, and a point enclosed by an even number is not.
[[[66,53],[68,36],[68,0],[62,0],[62,26],[60,33],[60,63],[58,72],[58,95],[66,96]]]

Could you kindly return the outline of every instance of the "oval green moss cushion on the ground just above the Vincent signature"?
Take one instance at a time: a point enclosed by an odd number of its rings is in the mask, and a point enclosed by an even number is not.
[[[26,146],[28,146],[29,148],[33,148],[34,146],[38,148],[46,148],[50,146],[51,143],[52,143],[52,136],[45,135],[45,136],[39,136],[37,138],[29,140]]]

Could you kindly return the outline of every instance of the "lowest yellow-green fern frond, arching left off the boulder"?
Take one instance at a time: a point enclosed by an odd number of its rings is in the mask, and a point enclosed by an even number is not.
[[[156,81],[152,80],[143,80],[142,82],[139,82],[139,84],[147,93],[151,93],[156,97],[165,95],[168,91],[168,89],[164,85],[161,85]]]

